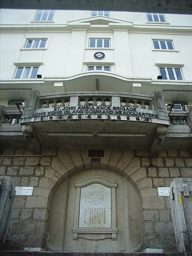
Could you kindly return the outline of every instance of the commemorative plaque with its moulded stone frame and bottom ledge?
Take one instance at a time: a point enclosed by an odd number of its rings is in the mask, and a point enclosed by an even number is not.
[[[78,238],[116,240],[115,180],[102,176],[87,177],[75,183],[76,208],[73,240]],[[94,234],[99,234],[95,238]]]

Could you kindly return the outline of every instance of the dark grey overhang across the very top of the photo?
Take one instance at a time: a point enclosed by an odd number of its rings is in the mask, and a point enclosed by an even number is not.
[[[0,8],[15,9],[65,9],[65,10],[109,10],[126,12],[158,12],[192,14],[189,0],[1,0]]]

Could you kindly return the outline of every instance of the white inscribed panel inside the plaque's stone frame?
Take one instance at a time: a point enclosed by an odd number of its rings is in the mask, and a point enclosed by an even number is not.
[[[81,188],[79,227],[111,227],[111,188],[98,183]]]

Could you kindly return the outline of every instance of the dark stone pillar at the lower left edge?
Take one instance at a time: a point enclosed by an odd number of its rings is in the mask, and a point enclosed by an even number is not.
[[[6,240],[14,198],[15,180],[0,176],[0,250],[3,250]]]

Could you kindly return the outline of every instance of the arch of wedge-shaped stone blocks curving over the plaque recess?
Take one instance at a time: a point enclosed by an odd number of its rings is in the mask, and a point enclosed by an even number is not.
[[[45,177],[40,180],[36,195],[40,195],[46,188],[43,193],[47,198],[47,209],[49,211],[52,195],[59,184],[74,173],[91,168],[107,169],[125,177],[134,186],[142,204],[143,198],[146,199],[145,195],[143,197],[142,191],[145,194],[152,185],[151,179],[147,178],[145,168],[140,166],[140,158],[135,156],[131,149],[107,149],[105,158],[101,159],[99,164],[91,163],[86,149],[58,149],[58,155],[52,157],[51,166],[46,168]],[[47,225],[45,224],[44,234],[46,233]]]

